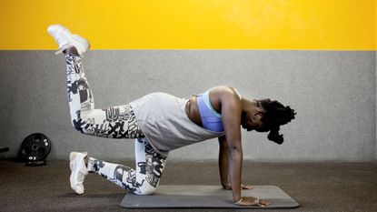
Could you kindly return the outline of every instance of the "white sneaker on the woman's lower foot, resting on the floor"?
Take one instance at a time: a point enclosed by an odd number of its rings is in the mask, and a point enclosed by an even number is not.
[[[86,152],[71,152],[69,154],[69,167],[71,168],[71,187],[74,192],[81,195],[84,194],[84,178],[88,174],[88,169],[85,166],[84,157],[88,154]]]

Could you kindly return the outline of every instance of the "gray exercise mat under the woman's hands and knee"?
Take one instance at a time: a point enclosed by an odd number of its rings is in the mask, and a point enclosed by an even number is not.
[[[253,186],[243,190],[244,197],[253,196],[271,202],[262,208],[293,208],[299,204],[280,187]],[[217,186],[174,185],[159,186],[151,196],[125,195],[121,207],[126,208],[261,208],[240,207],[232,202],[232,191]]]

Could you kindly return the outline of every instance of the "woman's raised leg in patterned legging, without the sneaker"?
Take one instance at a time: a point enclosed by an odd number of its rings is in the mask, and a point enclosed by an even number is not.
[[[71,47],[74,48],[74,47]],[[94,96],[86,80],[83,58],[65,51],[67,95],[74,128],[86,135],[111,138],[144,136],[130,105],[94,109]]]

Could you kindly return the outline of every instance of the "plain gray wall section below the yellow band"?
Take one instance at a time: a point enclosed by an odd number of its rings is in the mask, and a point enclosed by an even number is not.
[[[133,140],[84,136],[71,126],[64,56],[0,51],[0,146],[13,157],[25,136],[41,132],[66,159],[72,150],[131,159]],[[243,132],[244,158],[258,161],[372,161],[376,148],[376,53],[331,51],[91,51],[84,58],[96,107],[122,105],[154,91],[188,97],[211,86],[236,87],[296,109],[285,142]],[[216,140],[185,146],[171,160],[214,160]]]

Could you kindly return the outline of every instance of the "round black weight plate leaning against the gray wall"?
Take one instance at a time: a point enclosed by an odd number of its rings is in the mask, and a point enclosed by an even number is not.
[[[20,155],[26,161],[44,160],[50,153],[51,141],[41,133],[25,137],[20,147]]]

